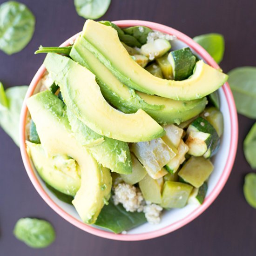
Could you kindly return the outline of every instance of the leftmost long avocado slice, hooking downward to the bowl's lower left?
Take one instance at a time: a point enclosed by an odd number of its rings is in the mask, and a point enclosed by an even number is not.
[[[96,221],[110,197],[112,178],[86,148],[76,141],[69,125],[65,104],[50,91],[27,99],[27,107],[36,125],[41,145],[49,155],[68,155],[81,169],[81,187],[72,201],[83,222]]]

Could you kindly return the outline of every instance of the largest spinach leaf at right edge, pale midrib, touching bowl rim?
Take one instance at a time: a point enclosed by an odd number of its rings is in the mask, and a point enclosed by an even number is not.
[[[237,112],[256,118],[256,67],[236,67],[228,75]]]

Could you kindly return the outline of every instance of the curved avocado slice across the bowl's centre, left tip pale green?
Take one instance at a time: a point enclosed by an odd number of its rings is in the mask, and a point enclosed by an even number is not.
[[[94,132],[125,142],[150,141],[164,135],[164,129],[142,109],[124,114],[111,107],[95,75],[70,58],[47,54],[44,65],[60,86],[67,107]]]

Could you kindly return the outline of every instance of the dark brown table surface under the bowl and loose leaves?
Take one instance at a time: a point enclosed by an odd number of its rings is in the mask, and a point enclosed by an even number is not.
[[[0,3],[4,2],[0,0]],[[0,81],[6,87],[27,85],[43,61],[40,45],[57,46],[79,32],[84,19],[73,0],[22,0],[36,16],[34,37],[18,54],[0,52]],[[256,66],[255,0],[112,0],[103,20],[141,19],[174,27],[193,37],[218,32],[225,36],[224,72]],[[20,151],[0,129],[0,256],[255,256],[256,210],[243,197],[243,177],[251,172],[243,156],[243,139],[253,120],[239,115],[236,162],[225,188],[196,220],[169,235],[143,242],[118,242],[75,228],[41,199],[28,179]],[[49,220],[56,241],[30,249],[13,236],[20,217]]]

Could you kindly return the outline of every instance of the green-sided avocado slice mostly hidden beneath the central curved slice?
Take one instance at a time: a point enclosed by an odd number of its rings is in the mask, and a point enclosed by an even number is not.
[[[67,117],[75,138],[82,143],[82,145],[87,145],[87,141],[90,141],[92,138],[94,138],[95,141],[102,139],[99,143],[88,146],[88,151],[97,162],[116,173],[132,173],[128,143],[98,135],[76,118],[70,109],[67,109]]]

